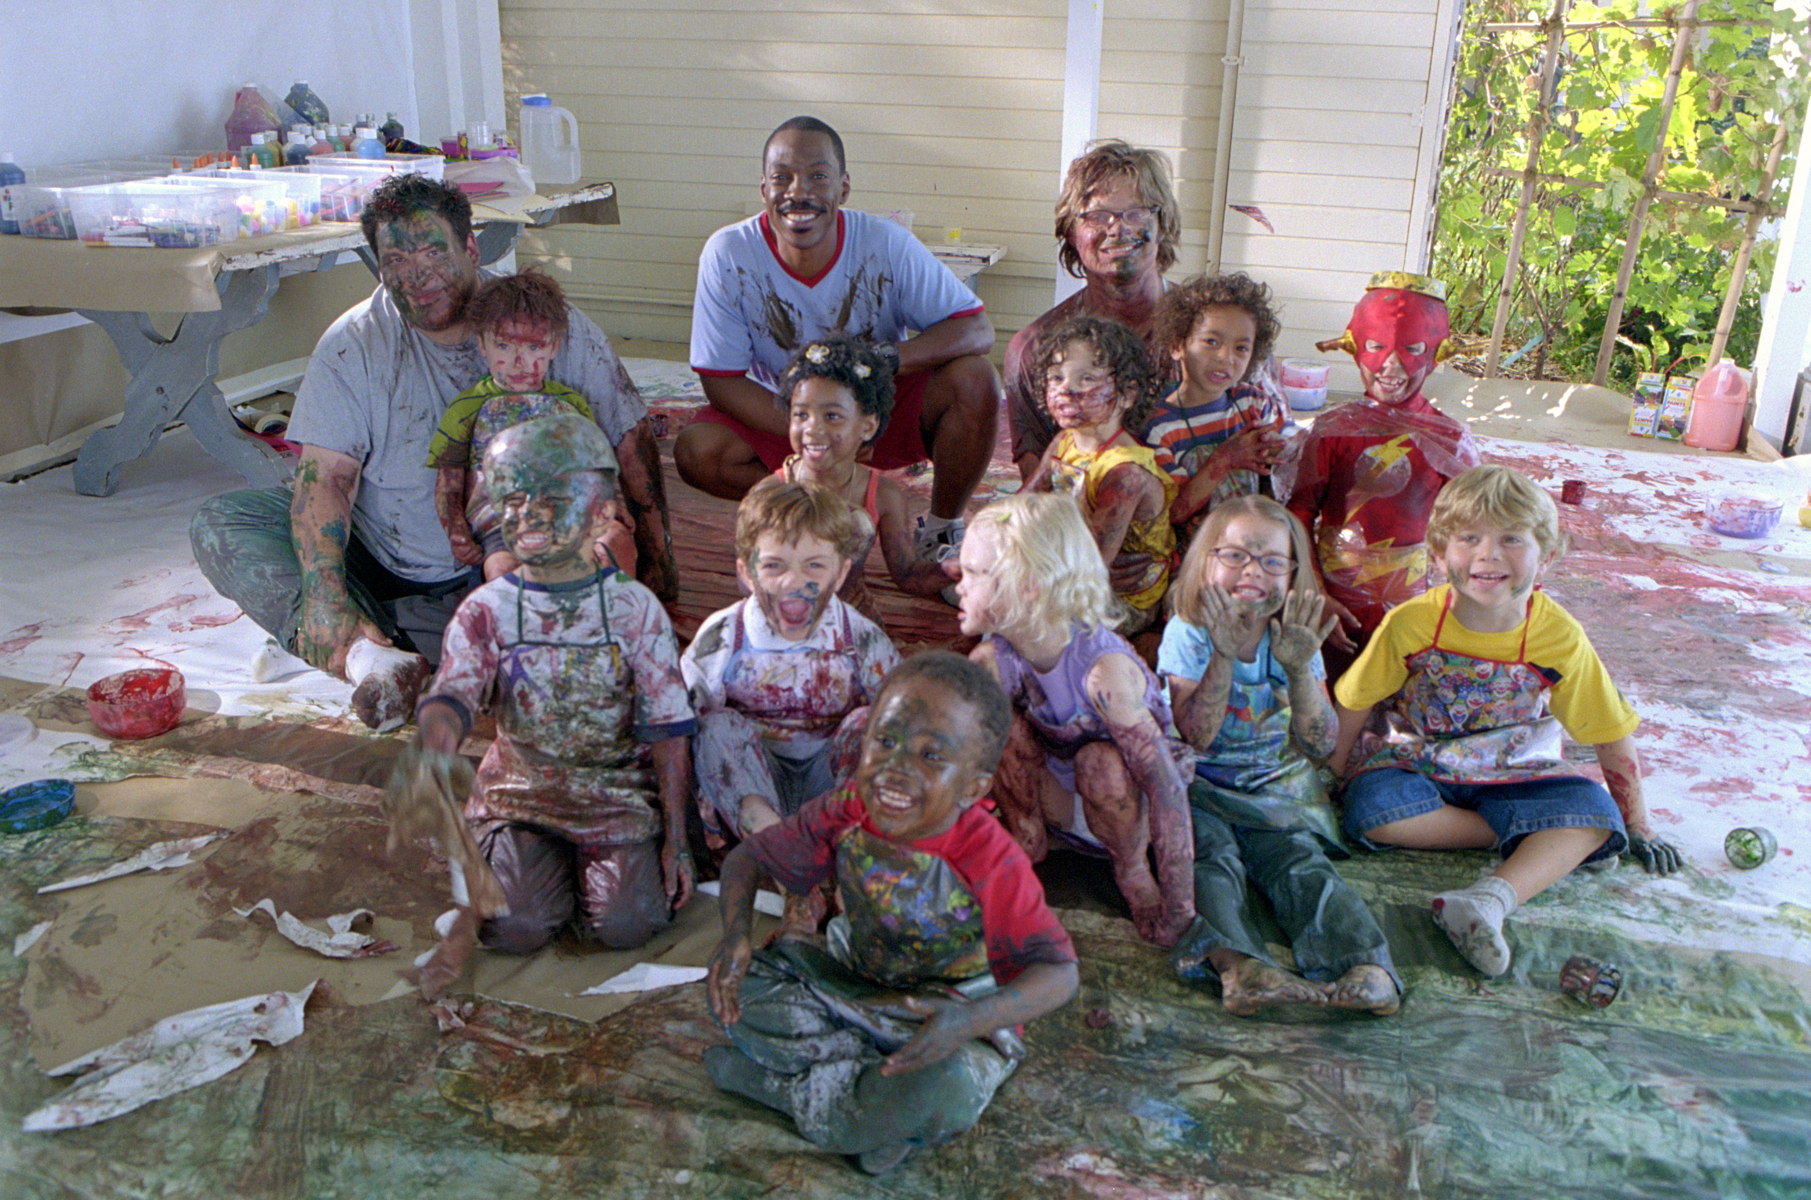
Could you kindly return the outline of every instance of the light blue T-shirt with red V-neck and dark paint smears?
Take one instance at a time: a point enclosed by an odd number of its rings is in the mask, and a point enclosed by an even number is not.
[[[911,230],[867,212],[837,214],[837,257],[813,279],[781,262],[768,215],[710,235],[697,259],[692,369],[750,375],[775,387],[786,362],[835,329],[898,342],[907,329],[978,313],[985,306]]]

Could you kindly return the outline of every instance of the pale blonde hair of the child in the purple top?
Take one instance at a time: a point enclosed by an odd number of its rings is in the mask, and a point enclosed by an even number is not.
[[[1047,628],[1079,623],[1116,628],[1125,608],[1107,577],[1101,548],[1074,498],[1020,492],[974,514],[974,527],[1000,538],[992,619],[1005,626]]]

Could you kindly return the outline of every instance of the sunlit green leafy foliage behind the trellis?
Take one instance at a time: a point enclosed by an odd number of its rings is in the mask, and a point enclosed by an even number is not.
[[[1662,16],[1637,0],[1581,4],[1567,22]],[[1458,89],[1447,129],[1434,233],[1434,271],[1447,281],[1452,328],[1489,333],[1507,261],[1519,174],[1539,105],[1541,33],[1483,33],[1487,22],[1541,22],[1550,5],[1474,0],[1460,49]],[[1786,206],[1807,78],[1807,34],[1766,0],[1701,4],[1711,25],[1686,58],[1666,123],[1657,186],[1670,192],[1753,199],[1780,119],[1787,154],[1768,197]],[[1615,290],[1630,212],[1648,156],[1661,138],[1661,96],[1672,63],[1670,29],[1568,33],[1554,105],[1541,134],[1541,174],[1601,181],[1603,188],[1538,185],[1514,284],[1507,349],[1541,337],[1541,375],[1590,378]],[[1492,176],[1510,168],[1518,177]],[[1612,384],[1637,371],[1684,369],[1710,353],[1746,214],[1655,197],[1628,284]],[[1755,246],[1728,357],[1748,362],[1760,335],[1760,299],[1773,244]],[[1652,366],[1643,366],[1652,364]]]

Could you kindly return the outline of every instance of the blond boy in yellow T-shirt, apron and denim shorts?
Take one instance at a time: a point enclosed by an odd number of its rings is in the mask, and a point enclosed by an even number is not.
[[[1552,496],[1472,467],[1434,501],[1427,543],[1449,583],[1393,608],[1335,690],[1346,833],[1371,849],[1496,847],[1490,876],[1433,907],[1460,954],[1501,976],[1503,919],[1530,896],[1624,851],[1666,874],[1679,851],[1648,824],[1641,720],[1579,623],[1536,590],[1565,550]],[[1565,760],[1561,728],[1597,751],[1608,791]]]

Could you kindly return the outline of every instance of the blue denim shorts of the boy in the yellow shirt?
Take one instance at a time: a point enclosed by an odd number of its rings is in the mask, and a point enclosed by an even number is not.
[[[1597,780],[1583,775],[1528,780],[1525,784],[1442,784],[1420,771],[1378,767],[1346,784],[1346,836],[1382,851],[1369,834],[1422,813],[1436,813],[1451,804],[1485,818],[1496,833],[1496,851],[1503,858],[1516,852],[1521,840],[1541,829],[1608,829],[1608,840],[1585,862],[1614,858],[1628,849],[1623,813]]]

